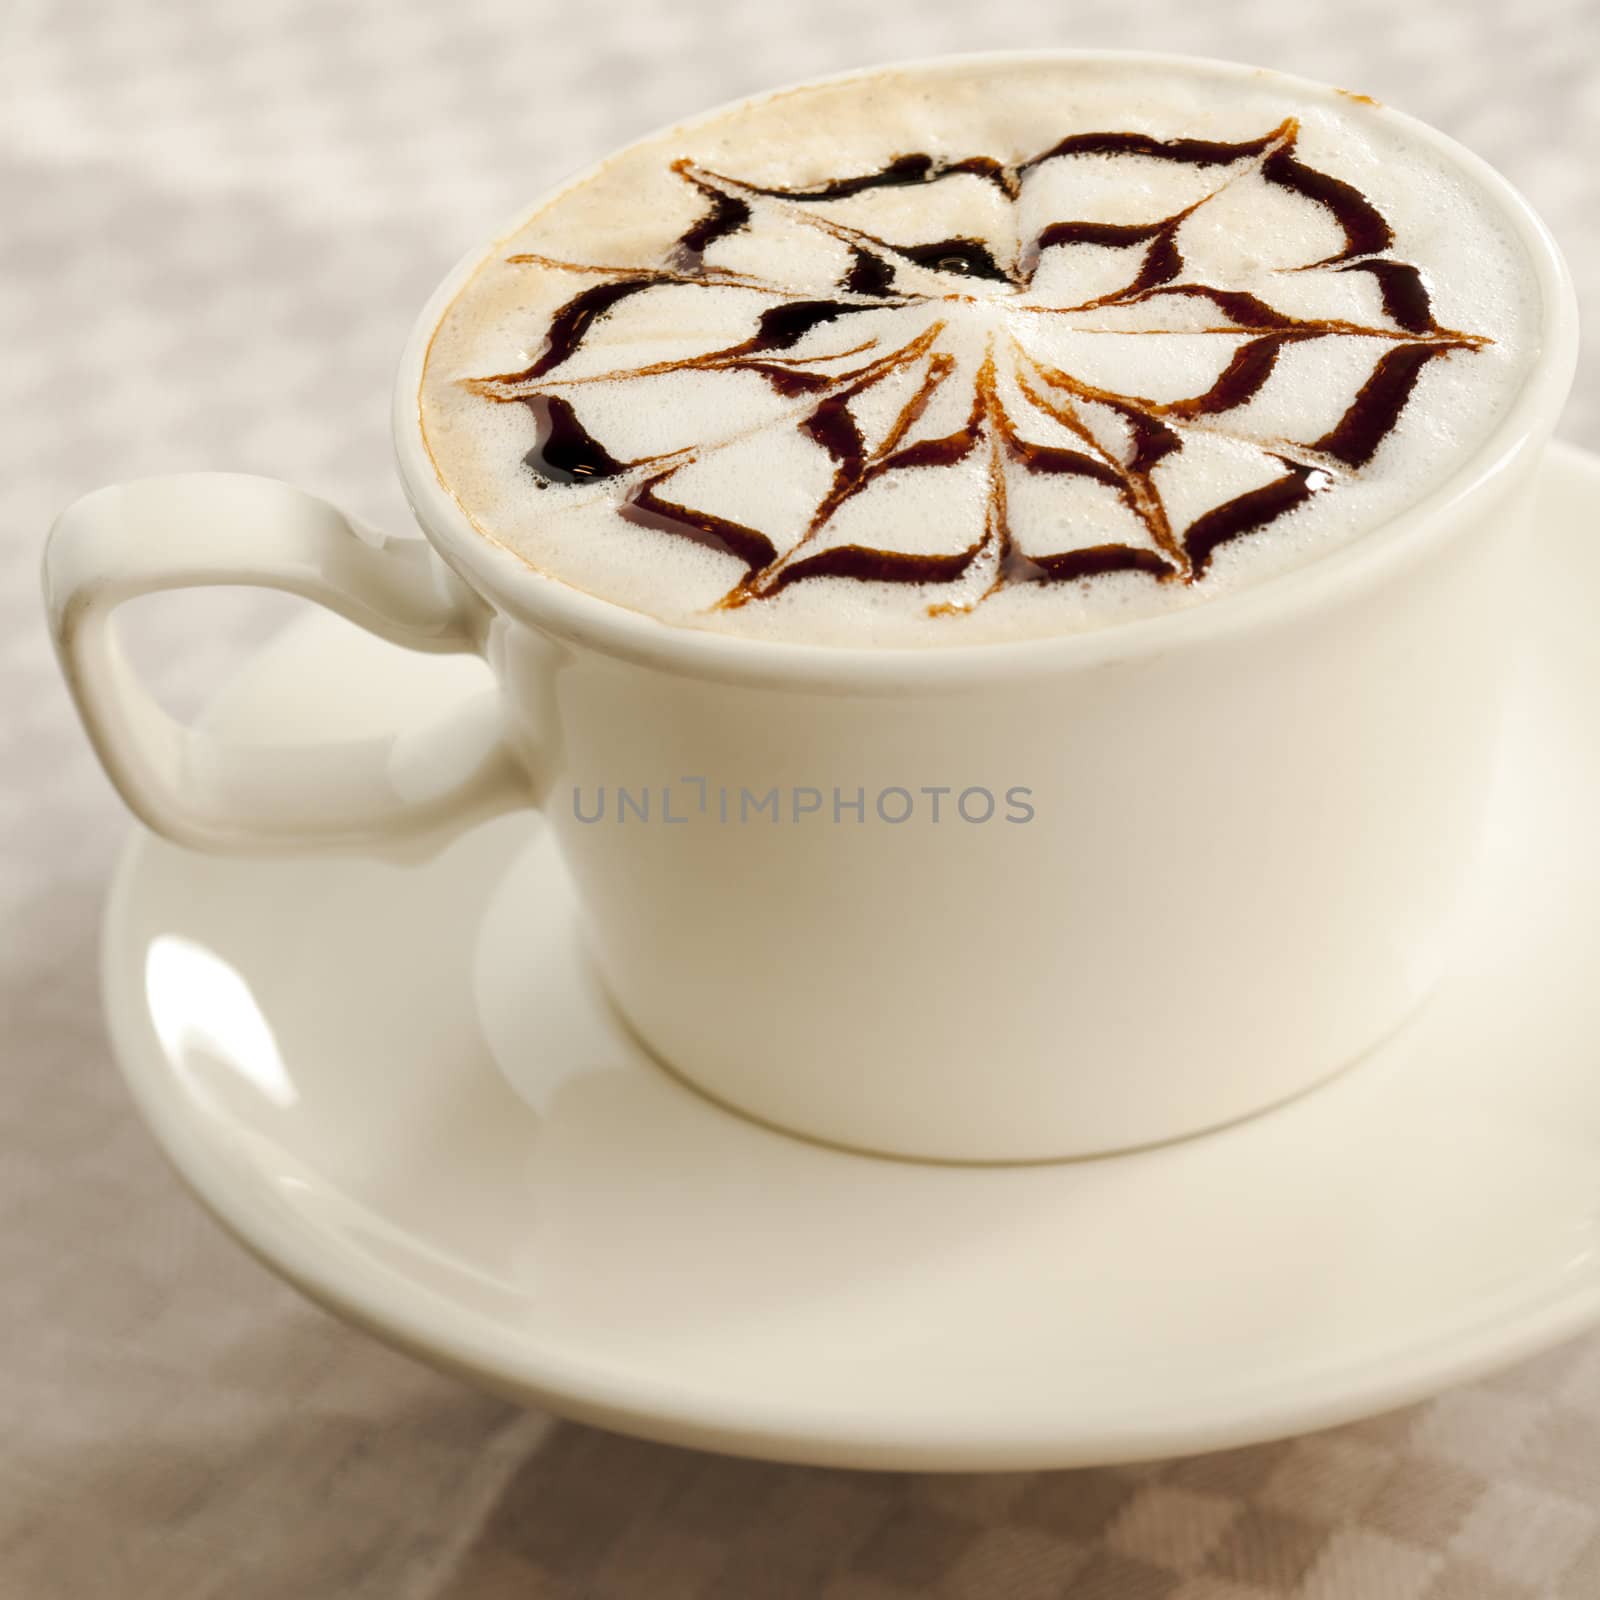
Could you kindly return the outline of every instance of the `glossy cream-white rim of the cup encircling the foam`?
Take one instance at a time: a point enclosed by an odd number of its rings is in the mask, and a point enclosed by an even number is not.
[[[797,88],[848,83],[885,70],[958,70],[970,66],[1130,62],[1203,69],[1235,78],[1270,75],[1290,90],[1325,98],[1331,85],[1274,67],[1142,50],[997,50],[878,62],[803,78],[726,101],[672,122],[640,141],[691,130],[746,106]],[[1486,485],[1542,448],[1566,400],[1578,358],[1578,307],[1571,275],[1549,229],[1522,194],[1486,160],[1437,128],[1384,104],[1373,115],[1398,123],[1459,166],[1499,206],[1528,256],[1539,290],[1539,346],[1522,387],[1483,443],[1442,483],[1395,517],[1301,566],[1202,605],[1114,622],[1102,629],[958,645],[824,645],[752,638],[685,627],[562,582],[533,566],[472,523],[434,466],[422,434],[421,382],[434,331],[482,262],[538,211],[584,182],[611,154],[544,190],[486,243],[474,245],[429,296],[406,338],[395,376],[392,426],[400,482],[422,533],[440,557],[499,611],[536,630],[608,656],[674,675],[733,683],[874,691],[982,685],[1070,669],[1109,666],[1229,640],[1274,624],[1293,624],[1419,560],[1459,525],[1458,509]],[[630,142],[640,142],[630,141]]]

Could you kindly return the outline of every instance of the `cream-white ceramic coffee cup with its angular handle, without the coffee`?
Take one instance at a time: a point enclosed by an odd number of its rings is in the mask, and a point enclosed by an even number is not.
[[[59,518],[50,614],[94,747],[150,827],[198,850],[373,848],[542,806],[634,1030],[800,1134],[1030,1160],[1286,1099],[1394,1030],[1440,971],[1576,352],[1533,213],[1440,134],[1413,136],[1499,197],[1542,352],[1454,477],[1286,576],[949,650],[730,638],[592,598],[482,538],[424,450],[422,360],[474,251],[395,390],[432,549],[219,474],[101,490]],[[133,595],[242,582],[410,648],[478,651],[501,694],[426,738],[222,747],[157,707],[109,621]]]

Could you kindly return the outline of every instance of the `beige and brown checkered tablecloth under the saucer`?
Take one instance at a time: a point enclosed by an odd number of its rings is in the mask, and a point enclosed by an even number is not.
[[[1595,1600],[1600,1338],[1331,1434],[1136,1469],[766,1467],[517,1411],[302,1304],[178,1187],[107,1058],[125,818],[38,616],[56,509],[184,467],[402,525],[411,317],[658,123],[894,56],[1234,54],[1419,112],[1542,210],[1600,330],[1594,0],[11,0],[0,38],[3,1600]],[[1600,445],[1594,338],[1565,432]],[[174,704],[282,616],[152,603]]]

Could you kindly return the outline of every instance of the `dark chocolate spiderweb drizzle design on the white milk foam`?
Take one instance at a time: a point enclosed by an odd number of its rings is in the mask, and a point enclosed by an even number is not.
[[[1238,144],[1080,133],[1010,166],[989,157],[946,162],[925,154],[898,155],[878,171],[798,189],[762,187],[680,160],[674,173],[698,190],[702,210],[666,259],[654,266],[590,266],[512,256],[512,262],[598,282],[560,306],[528,366],[469,382],[490,400],[531,411],[538,442],[526,462],[541,488],[566,485],[582,493],[584,485],[598,485],[595,493],[606,494],[626,522],[694,541],[736,562],[742,573],[718,602],[723,608],[766,600],[813,578],[941,586],[944,598],[930,605],[933,614],[970,611],[1011,584],[1083,581],[1106,573],[1197,582],[1221,546],[1259,533],[1365,467],[1430,362],[1490,342],[1435,320],[1422,274],[1389,254],[1389,222],[1358,189],[1301,162],[1296,134],[1293,120]],[[1014,203],[1034,174],[1070,157],[1200,168],[1214,173],[1216,182],[1171,216],[1142,222],[1053,221],[1014,238],[1008,250],[971,237],[891,242],[848,226],[837,210],[838,202],[874,189],[960,179],[989,184]],[[1318,208],[1342,237],[1331,254],[1280,270],[1368,278],[1382,307],[1381,323],[1294,317],[1254,293],[1187,275],[1184,227],[1246,179]],[[717,262],[718,245],[770,219],[789,226],[798,221],[830,238],[843,264],[824,293]],[[1074,250],[1117,253],[1118,262],[1125,258],[1126,280],[1074,304],[1056,304],[1035,291],[1051,253]],[[618,306],[667,286],[747,291],[731,299],[744,322],[736,330],[741,336],[699,355],[566,374],[566,363]],[[952,334],[963,304],[997,314],[986,325],[981,354],[970,349],[965,363]],[[1133,306],[1144,307],[1139,326],[1096,325],[1098,317]],[[912,307],[925,314],[920,325],[915,318],[907,323]],[[1163,312],[1170,312],[1165,326]],[[1030,325],[1058,317],[1078,331],[1206,334],[1227,338],[1230,346],[1222,352],[1226,365],[1203,392],[1157,402],[1098,387],[1040,355],[1029,339]],[[915,331],[907,338],[909,328]],[[1227,427],[1229,413],[1261,394],[1285,350],[1336,339],[1378,341],[1378,349],[1357,394],[1322,437],[1296,443]],[[827,456],[830,483],[787,547],[758,528],[688,504],[688,496],[674,490],[685,467],[746,437],[736,422],[726,437],[619,459],[589,432],[574,406],[584,384],[635,382],[688,370],[758,376],[792,403],[779,422],[765,426],[798,429]],[[946,384],[963,378],[971,392],[965,421],[939,437],[922,437],[918,424],[930,403]],[[869,438],[858,406],[890,381],[899,384],[898,411],[886,429],[880,426]],[[1254,446],[1264,482],[1176,526],[1163,498],[1163,464],[1197,432],[1226,434]],[[1038,434],[1051,442],[1030,437]],[[987,485],[981,526],[973,526],[965,547],[925,554],[830,542],[840,509],[870,485],[898,472],[963,462],[976,462]],[[1133,514],[1142,536],[1024,550],[1008,517],[1016,474],[1078,480],[1080,488],[1112,496]]]

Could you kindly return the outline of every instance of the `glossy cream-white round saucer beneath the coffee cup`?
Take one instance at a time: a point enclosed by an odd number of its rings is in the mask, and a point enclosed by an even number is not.
[[[136,838],[106,926],[117,1053],[202,1200],[306,1293],[629,1432],[1022,1469],[1413,1400],[1600,1315],[1597,501],[1600,462],[1557,451],[1536,646],[1443,990],[1254,1122],[1032,1168],[741,1122],[613,1019],[531,818],[422,867]],[[478,672],[314,618],[218,715],[379,728]]]

